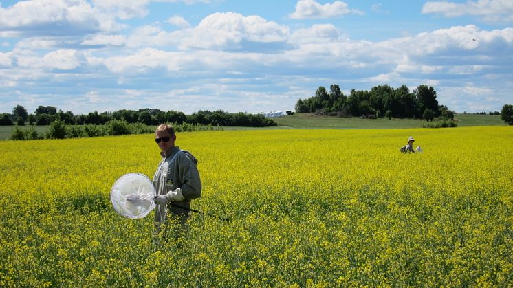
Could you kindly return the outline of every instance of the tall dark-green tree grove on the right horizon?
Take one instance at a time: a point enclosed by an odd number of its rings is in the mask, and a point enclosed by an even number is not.
[[[371,91],[352,89],[345,96],[336,84],[329,91],[320,86],[315,96],[299,99],[296,103],[298,113],[324,113],[339,117],[364,118],[423,118],[433,120],[444,116],[454,120],[455,111],[439,105],[437,92],[433,87],[420,85],[412,92],[406,85],[394,89],[389,85],[378,85]]]

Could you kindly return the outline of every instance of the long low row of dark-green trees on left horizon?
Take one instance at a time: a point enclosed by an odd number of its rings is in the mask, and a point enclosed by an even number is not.
[[[114,112],[98,113],[98,111],[94,111],[87,114],[74,115],[71,111],[63,112],[61,109],[57,110],[53,106],[39,106],[34,113],[29,114],[21,105],[14,107],[12,114],[3,113],[0,116],[0,125],[18,124],[21,126],[26,122],[30,125],[50,125],[55,120],[60,120],[68,125],[103,125],[110,120],[123,120],[128,123],[141,123],[153,126],[166,122],[212,126],[277,126],[274,120],[265,118],[261,114],[228,113],[223,110],[199,110],[197,113],[186,115],[180,111],[161,111],[159,109],[122,109]]]

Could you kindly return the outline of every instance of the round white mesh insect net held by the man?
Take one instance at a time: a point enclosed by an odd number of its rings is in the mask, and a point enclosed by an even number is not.
[[[114,210],[123,217],[143,218],[153,208],[155,188],[150,179],[141,173],[128,173],[119,177],[111,188]]]

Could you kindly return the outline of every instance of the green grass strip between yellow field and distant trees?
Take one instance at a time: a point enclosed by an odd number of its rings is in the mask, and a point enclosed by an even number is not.
[[[458,126],[505,126],[501,115],[457,114]],[[338,118],[333,116],[316,116],[312,113],[295,113],[285,117],[274,118],[276,127],[223,127],[223,130],[265,130],[265,129],[407,129],[421,128],[427,122],[415,119],[361,119]],[[8,140],[15,126],[0,126],[0,140]],[[27,129],[29,126],[22,126]],[[41,135],[46,133],[48,126],[35,126]]]

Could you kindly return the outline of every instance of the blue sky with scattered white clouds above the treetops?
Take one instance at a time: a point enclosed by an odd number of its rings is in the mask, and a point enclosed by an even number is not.
[[[285,111],[331,84],[513,103],[510,0],[0,3],[0,113]]]

